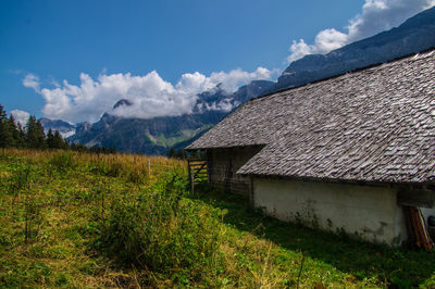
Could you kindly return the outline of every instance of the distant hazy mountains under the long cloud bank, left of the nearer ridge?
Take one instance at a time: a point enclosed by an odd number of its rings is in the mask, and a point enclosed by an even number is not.
[[[121,152],[167,154],[172,147],[183,148],[201,133],[225,117],[232,110],[247,100],[258,97],[272,81],[258,80],[227,93],[220,85],[198,95],[192,113],[179,116],[153,118],[127,118],[105,112],[94,124],[82,123],[76,134],[67,140],[87,147],[115,147]],[[127,100],[117,101],[113,108],[132,105]]]

